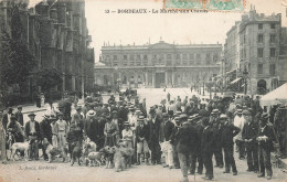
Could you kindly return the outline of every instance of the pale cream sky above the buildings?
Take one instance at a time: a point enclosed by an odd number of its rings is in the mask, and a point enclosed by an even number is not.
[[[33,0],[32,0],[33,1]],[[163,7],[163,0],[85,0],[86,19],[95,49],[95,62],[98,62],[100,47],[104,42],[109,45],[134,43],[136,45],[157,43],[162,39],[167,43],[190,44],[203,43],[224,44],[226,32],[241,20],[238,12],[208,12],[208,13],[105,13],[106,10],[118,9],[152,9]],[[283,25],[287,26],[287,0],[246,0],[246,9],[251,3],[258,13],[281,13]]]

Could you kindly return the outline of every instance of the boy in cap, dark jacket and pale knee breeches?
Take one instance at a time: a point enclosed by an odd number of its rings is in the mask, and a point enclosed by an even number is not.
[[[149,128],[144,124],[144,118],[138,119],[138,126],[136,128],[136,142],[137,142],[137,164],[140,164],[140,154],[144,151],[146,158],[146,164],[149,165]]]

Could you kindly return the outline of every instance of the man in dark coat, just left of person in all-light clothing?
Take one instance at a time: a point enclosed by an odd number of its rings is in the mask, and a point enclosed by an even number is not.
[[[52,127],[47,115],[44,115],[44,119],[40,122],[41,139],[46,139],[52,143]],[[44,160],[49,160],[46,151],[42,148]]]

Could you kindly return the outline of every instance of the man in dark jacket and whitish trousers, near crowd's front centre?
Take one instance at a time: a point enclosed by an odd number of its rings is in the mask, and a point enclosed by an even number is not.
[[[161,124],[160,130],[160,142],[163,143],[167,148],[164,152],[166,156],[166,164],[163,168],[169,167],[170,169],[173,168],[173,147],[171,143],[172,131],[174,129],[174,124],[172,124],[169,119],[169,115],[167,113],[162,114],[163,122]]]

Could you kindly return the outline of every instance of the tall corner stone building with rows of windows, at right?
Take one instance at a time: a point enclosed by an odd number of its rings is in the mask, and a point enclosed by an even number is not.
[[[227,32],[225,73],[236,69],[236,79],[227,82],[225,74],[226,83],[247,94],[266,94],[286,82],[286,36],[280,13],[267,17],[252,7]]]

